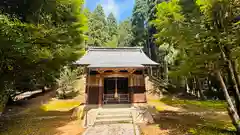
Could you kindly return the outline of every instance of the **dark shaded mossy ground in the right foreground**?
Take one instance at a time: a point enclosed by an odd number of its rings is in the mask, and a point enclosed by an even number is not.
[[[154,117],[155,124],[168,135],[234,135],[224,122],[206,119],[205,116],[161,111]],[[231,125],[230,125],[231,126]]]

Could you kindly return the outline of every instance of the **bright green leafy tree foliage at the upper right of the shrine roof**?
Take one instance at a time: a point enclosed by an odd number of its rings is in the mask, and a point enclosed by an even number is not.
[[[189,9],[185,9],[187,5],[191,5]],[[231,0],[197,0],[196,3],[172,0],[157,6],[153,24],[158,31],[158,44],[168,44],[179,51],[171,69],[173,75],[199,79],[221,70],[224,75],[234,77],[226,72],[233,68],[224,66],[238,58],[233,55],[240,41],[239,28],[233,23],[239,16],[236,5]]]

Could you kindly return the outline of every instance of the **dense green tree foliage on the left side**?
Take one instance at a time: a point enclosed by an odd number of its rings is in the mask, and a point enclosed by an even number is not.
[[[0,15],[1,97],[55,85],[60,68],[83,54],[83,0],[27,2],[31,13],[9,5]]]

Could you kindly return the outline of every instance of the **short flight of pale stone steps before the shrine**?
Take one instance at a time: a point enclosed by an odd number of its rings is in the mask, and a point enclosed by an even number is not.
[[[94,125],[133,123],[130,108],[99,109]]]

